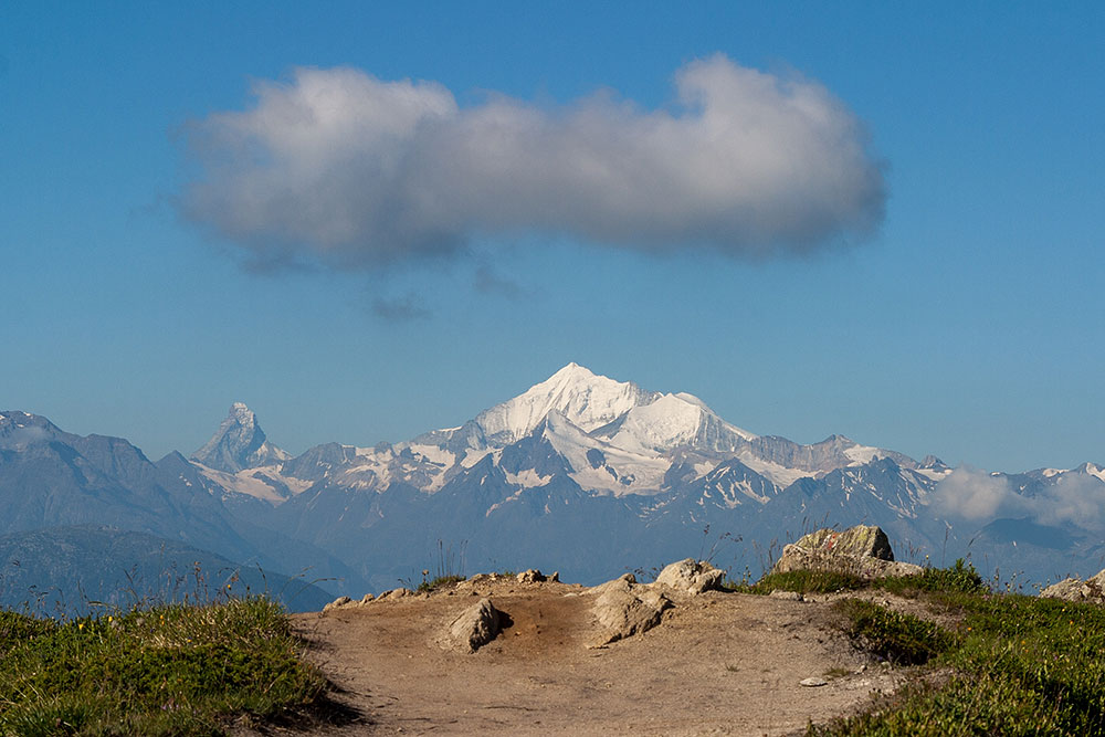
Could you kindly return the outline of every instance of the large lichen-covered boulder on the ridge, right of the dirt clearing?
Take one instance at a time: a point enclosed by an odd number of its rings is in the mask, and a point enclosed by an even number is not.
[[[808,569],[834,570],[862,578],[916,576],[924,570],[920,566],[895,561],[886,533],[873,525],[810,533],[782,549],[771,572]]]

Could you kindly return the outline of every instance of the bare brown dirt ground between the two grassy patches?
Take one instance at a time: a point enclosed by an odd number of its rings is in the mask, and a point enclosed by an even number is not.
[[[475,653],[440,644],[490,597],[511,623]],[[832,625],[827,601],[672,594],[656,628],[604,647],[578,586],[465,581],[449,592],[293,617],[307,656],[355,715],[312,734],[780,735],[893,691]],[[827,675],[828,674],[828,675]],[[810,676],[829,683],[801,686]],[[283,730],[281,730],[283,731]]]

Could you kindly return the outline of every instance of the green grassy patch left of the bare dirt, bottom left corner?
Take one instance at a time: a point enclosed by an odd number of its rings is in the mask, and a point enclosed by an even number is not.
[[[0,612],[0,734],[220,735],[326,686],[266,599],[67,622]]]

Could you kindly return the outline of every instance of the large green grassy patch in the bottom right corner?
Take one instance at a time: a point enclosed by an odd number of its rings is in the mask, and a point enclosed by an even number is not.
[[[1105,610],[971,591],[971,581],[933,577],[934,590],[918,594],[958,620],[954,632],[926,631],[867,602],[841,602],[857,642],[904,662],[927,661],[918,675],[929,677],[809,734],[1105,735]]]

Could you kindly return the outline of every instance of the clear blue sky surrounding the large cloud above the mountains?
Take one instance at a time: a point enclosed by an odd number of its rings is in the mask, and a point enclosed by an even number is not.
[[[6,6],[0,409],[158,457],[241,400],[299,452],[455,425],[575,360],[801,442],[1007,471],[1105,461],[1098,3],[408,4]],[[633,218],[588,230],[599,204],[527,228],[526,187],[549,190],[512,165],[517,198],[465,210],[483,229],[436,255],[403,241],[381,263],[369,230],[351,260],[292,243],[259,267],[281,222],[234,235],[189,199],[224,154],[196,131],[257,110],[257,85],[302,88],[297,70],[433,82],[464,113],[505,97],[555,127],[597,93],[630,123],[673,110],[681,70],[718,54],[862,126],[885,186],[873,230],[852,212],[764,259],[725,221],[724,248],[675,229],[655,253]],[[209,200],[239,207],[236,181]],[[607,227],[628,234],[611,246]]]

